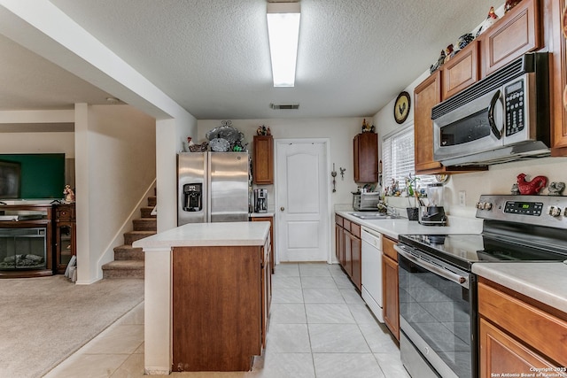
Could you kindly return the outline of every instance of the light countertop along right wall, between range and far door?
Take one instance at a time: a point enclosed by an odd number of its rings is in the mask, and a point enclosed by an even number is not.
[[[482,232],[482,220],[471,220],[466,218],[449,217],[449,226],[423,226],[416,220],[407,218],[388,220],[361,220],[350,215],[353,210],[335,210],[335,213],[357,223],[361,226],[371,228],[380,234],[398,239],[402,234],[480,234]]]

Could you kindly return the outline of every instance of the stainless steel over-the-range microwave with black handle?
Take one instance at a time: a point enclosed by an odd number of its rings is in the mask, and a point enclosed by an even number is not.
[[[480,166],[550,154],[548,53],[525,54],[435,105],[433,157]]]

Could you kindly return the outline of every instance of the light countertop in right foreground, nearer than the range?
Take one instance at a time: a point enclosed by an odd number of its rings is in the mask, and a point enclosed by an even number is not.
[[[566,264],[476,263],[472,272],[567,313]]]

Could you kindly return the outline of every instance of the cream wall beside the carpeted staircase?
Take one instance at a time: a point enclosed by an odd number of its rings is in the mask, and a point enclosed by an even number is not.
[[[155,120],[129,105],[79,105],[77,283],[90,283],[124,243],[116,232],[156,177]]]

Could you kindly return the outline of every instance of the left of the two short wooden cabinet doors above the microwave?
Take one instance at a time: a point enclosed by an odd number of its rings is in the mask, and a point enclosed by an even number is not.
[[[441,66],[442,98],[447,99],[477,82],[479,75],[478,42],[470,42]]]

